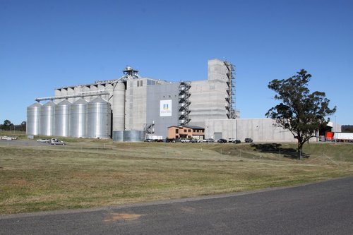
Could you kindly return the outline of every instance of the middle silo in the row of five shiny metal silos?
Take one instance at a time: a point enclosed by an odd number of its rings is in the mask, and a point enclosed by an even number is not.
[[[70,121],[71,102],[63,100],[55,106],[54,112],[54,135],[68,136],[68,124]]]

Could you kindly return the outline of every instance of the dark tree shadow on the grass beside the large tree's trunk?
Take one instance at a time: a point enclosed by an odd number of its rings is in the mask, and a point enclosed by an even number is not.
[[[274,154],[283,155],[283,157],[287,157],[290,159],[298,159],[297,149],[292,147],[282,147],[279,143],[262,143],[262,144],[251,144],[253,147],[253,151],[256,152],[269,152]],[[310,155],[304,152],[301,152],[301,157],[309,158]]]

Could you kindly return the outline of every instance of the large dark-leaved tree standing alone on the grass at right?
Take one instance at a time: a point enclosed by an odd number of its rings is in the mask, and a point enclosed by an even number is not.
[[[282,102],[265,115],[275,119],[277,126],[290,131],[298,140],[299,159],[304,143],[316,136],[321,125],[330,121],[325,121],[325,116],[336,112],[336,107],[328,107],[330,100],[325,97],[325,92],[310,93],[307,88],[310,78],[311,74],[301,69],[296,76],[268,83],[268,88],[277,93],[275,100]]]

